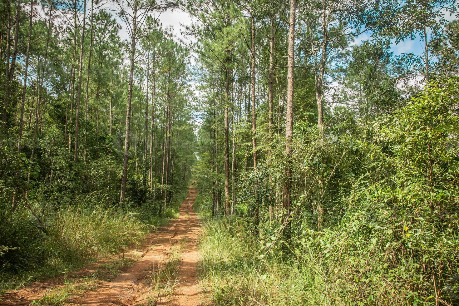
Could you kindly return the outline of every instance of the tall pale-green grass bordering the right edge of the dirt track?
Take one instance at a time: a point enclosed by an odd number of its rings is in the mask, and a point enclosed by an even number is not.
[[[201,284],[216,305],[326,305],[308,293],[313,286],[324,287],[316,265],[293,267],[275,256],[264,259],[258,255],[260,245],[243,237],[234,220],[210,220],[203,228]]]

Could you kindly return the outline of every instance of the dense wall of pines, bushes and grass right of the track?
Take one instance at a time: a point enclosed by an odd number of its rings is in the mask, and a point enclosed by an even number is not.
[[[207,72],[197,201],[209,216],[237,216],[211,221],[203,238],[214,302],[454,305],[457,20],[435,16],[455,8],[295,2],[293,23],[273,1],[191,10]],[[395,55],[390,39],[409,37],[425,49]],[[229,250],[212,255],[218,247]]]

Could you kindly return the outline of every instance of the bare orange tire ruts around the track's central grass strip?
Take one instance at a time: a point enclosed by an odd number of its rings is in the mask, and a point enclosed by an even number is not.
[[[168,258],[169,250],[180,240],[186,241],[186,244],[181,254],[179,270],[176,272],[179,284],[174,287],[172,295],[159,295],[150,305],[201,305],[201,289],[197,283],[197,263],[200,257],[196,245],[201,227],[192,209],[196,194],[196,189],[190,188],[188,197],[180,207],[179,218],[160,227],[157,233],[148,235],[145,244],[148,247],[138,261],[112,280],[102,282],[94,291],[86,291],[70,298],[65,305],[148,305],[151,288],[145,284],[144,279],[161,267]],[[25,301],[31,302],[43,295],[41,292],[35,297],[26,296],[25,300],[22,297],[21,301],[17,300],[17,304],[27,305],[29,303],[24,303]],[[10,305],[16,305],[14,299],[9,299],[9,302]]]

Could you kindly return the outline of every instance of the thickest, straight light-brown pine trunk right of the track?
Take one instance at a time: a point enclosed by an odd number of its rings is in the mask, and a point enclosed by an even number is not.
[[[287,68],[287,115],[285,123],[285,155],[287,164],[285,167],[285,185],[284,185],[284,210],[285,210],[285,228],[290,225],[290,188],[291,188],[291,144],[293,136],[293,69],[295,55],[295,11],[296,0],[290,0],[290,20],[288,33],[288,68]],[[288,229],[287,229],[288,230]]]

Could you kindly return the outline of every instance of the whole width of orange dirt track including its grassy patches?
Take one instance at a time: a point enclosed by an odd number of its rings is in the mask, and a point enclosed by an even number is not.
[[[179,218],[148,235],[140,249],[7,292],[0,305],[201,305],[196,193],[190,188]]]

